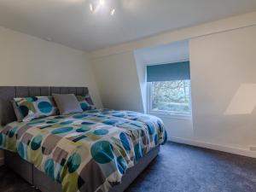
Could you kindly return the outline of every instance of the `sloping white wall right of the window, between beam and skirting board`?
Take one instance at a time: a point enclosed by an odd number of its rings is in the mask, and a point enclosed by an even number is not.
[[[195,139],[256,146],[256,26],[190,40]]]

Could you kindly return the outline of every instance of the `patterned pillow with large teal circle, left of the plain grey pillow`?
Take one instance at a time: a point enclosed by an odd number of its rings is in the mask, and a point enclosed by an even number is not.
[[[52,96],[14,98],[13,106],[18,121],[31,121],[57,114]]]

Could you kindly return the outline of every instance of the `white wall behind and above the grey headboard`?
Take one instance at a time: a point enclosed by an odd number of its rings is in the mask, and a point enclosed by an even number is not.
[[[102,102],[88,55],[0,27],[0,85],[88,86],[97,107]],[[3,154],[0,151],[0,161]]]

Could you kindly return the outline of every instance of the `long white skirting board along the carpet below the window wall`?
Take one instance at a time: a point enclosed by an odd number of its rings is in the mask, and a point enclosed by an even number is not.
[[[219,144],[214,144],[214,143],[205,143],[205,142],[201,142],[201,141],[184,139],[184,138],[180,138],[180,137],[169,137],[168,140],[175,142],[175,143],[183,143],[183,144],[193,145],[193,146],[201,147],[201,148],[211,148],[213,150],[224,151],[224,152],[227,152],[230,154],[240,154],[243,156],[256,158],[255,151],[250,151],[250,150],[247,150],[244,148],[228,147],[228,146],[224,146],[224,145],[219,145]]]

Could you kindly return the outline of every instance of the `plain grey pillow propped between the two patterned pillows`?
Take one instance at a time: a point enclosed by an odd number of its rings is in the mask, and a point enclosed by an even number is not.
[[[83,112],[77,97],[73,94],[53,94],[61,114]]]

